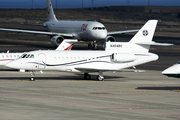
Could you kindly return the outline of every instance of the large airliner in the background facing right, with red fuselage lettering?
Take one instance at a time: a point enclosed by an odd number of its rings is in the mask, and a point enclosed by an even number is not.
[[[46,27],[50,32],[44,31],[31,31],[31,30],[18,30],[0,28],[2,31],[23,32],[31,34],[42,34],[51,36],[51,43],[57,47],[64,39],[77,39],[78,41],[91,41],[88,45],[89,48],[97,49],[95,41],[105,40],[116,41],[112,34],[121,34],[127,32],[137,32],[138,30],[125,30],[107,32],[105,26],[99,22],[91,21],[63,21],[57,20],[53,11],[51,0],[47,2],[47,15],[48,21],[42,26]]]

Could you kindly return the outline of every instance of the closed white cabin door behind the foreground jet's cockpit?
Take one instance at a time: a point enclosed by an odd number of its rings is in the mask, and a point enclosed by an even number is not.
[[[44,53],[40,53],[39,55],[38,55],[38,57],[39,57],[39,61],[38,61],[38,63],[39,63],[39,65],[38,65],[38,68],[39,69],[45,69],[46,68],[46,65],[45,65],[45,63],[46,63],[46,55],[44,54]]]

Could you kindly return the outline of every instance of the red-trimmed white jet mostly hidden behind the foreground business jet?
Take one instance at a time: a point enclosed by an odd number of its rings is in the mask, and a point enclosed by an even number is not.
[[[63,42],[61,43],[61,45],[58,46],[58,48],[56,50],[71,50],[71,48],[73,47],[73,44],[77,42],[77,40],[63,40]],[[5,65],[6,63],[19,58],[22,54],[24,54],[24,52],[21,53],[10,53],[9,51],[7,51],[6,53],[0,53],[0,66]],[[28,57],[28,56],[26,56]],[[29,56],[30,57],[30,56]]]

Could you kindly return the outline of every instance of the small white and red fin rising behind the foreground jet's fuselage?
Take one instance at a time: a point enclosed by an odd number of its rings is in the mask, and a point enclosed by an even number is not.
[[[64,39],[56,50],[71,50],[75,42],[78,42],[78,40]]]

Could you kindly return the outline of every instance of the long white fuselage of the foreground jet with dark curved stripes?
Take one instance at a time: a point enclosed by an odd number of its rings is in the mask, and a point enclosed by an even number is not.
[[[28,55],[29,57],[23,57],[22,55],[21,58],[7,63],[6,66],[25,70],[82,72],[78,68],[121,70],[158,59],[158,56],[153,53],[129,55],[119,53],[120,59],[115,61],[113,54],[115,53],[107,51],[32,51],[25,53],[25,56]],[[123,62],[120,56],[123,57]],[[127,58],[127,61],[124,58]]]

